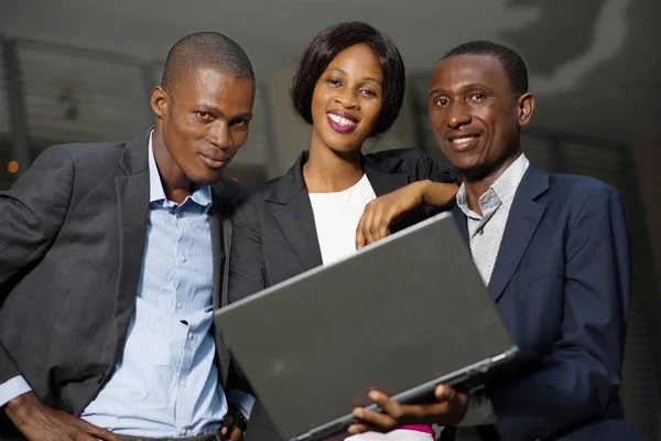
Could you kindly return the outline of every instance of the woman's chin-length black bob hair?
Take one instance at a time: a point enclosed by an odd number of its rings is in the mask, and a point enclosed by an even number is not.
[[[383,133],[392,126],[404,99],[404,62],[388,36],[359,21],[326,28],[303,51],[292,80],[291,95],[294,108],[307,123],[312,123],[314,86],[328,64],[345,49],[361,43],[375,51],[383,72],[383,107],[370,137]]]

